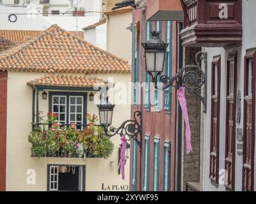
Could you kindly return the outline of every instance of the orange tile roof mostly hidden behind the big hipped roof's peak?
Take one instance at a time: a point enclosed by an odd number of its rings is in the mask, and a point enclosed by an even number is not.
[[[38,34],[44,31],[16,31],[16,30],[0,30],[0,37],[3,37],[7,40],[12,41],[13,43],[21,43],[33,36],[37,36]],[[81,39],[84,39],[83,31],[70,31],[70,33],[78,36]]]

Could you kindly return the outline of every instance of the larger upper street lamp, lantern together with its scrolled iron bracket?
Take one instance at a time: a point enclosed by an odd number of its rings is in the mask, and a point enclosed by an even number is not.
[[[164,90],[168,87],[173,86],[176,89],[180,87],[185,87],[189,92],[193,92],[200,98],[204,104],[206,113],[206,80],[207,75],[207,66],[205,65],[205,73],[202,70],[200,63],[201,61],[207,61],[207,54],[205,52],[198,52],[195,56],[196,65],[186,65],[179,69],[178,73],[173,77],[168,77],[161,75],[164,68],[164,56],[166,55],[166,47],[168,43],[164,43],[163,40],[159,38],[159,31],[152,31],[150,40],[142,43],[143,48],[145,49],[145,64],[146,71],[152,77],[152,82],[155,85],[156,89]],[[205,63],[207,64],[207,63]],[[158,76],[161,75],[160,80]],[[163,83],[163,87],[157,87],[158,82]],[[200,94],[200,89],[202,85],[205,84],[204,96]]]

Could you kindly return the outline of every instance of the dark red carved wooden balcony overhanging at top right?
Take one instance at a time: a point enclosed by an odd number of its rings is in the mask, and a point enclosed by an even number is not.
[[[180,38],[184,47],[227,47],[241,44],[242,0],[181,2],[184,29],[180,32]],[[223,13],[225,8],[227,12]]]

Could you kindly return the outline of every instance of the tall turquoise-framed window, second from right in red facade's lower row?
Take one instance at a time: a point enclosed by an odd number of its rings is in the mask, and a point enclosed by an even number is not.
[[[153,191],[159,191],[159,154],[160,139],[155,137],[153,156]]]

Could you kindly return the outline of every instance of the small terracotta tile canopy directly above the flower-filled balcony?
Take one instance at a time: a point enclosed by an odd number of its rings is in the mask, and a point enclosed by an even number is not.
[[[52,87],[112,87],[113,84],[100,78],[72,76],[72,75],[46,75],[28,82],[28,85],[44,85]]]

